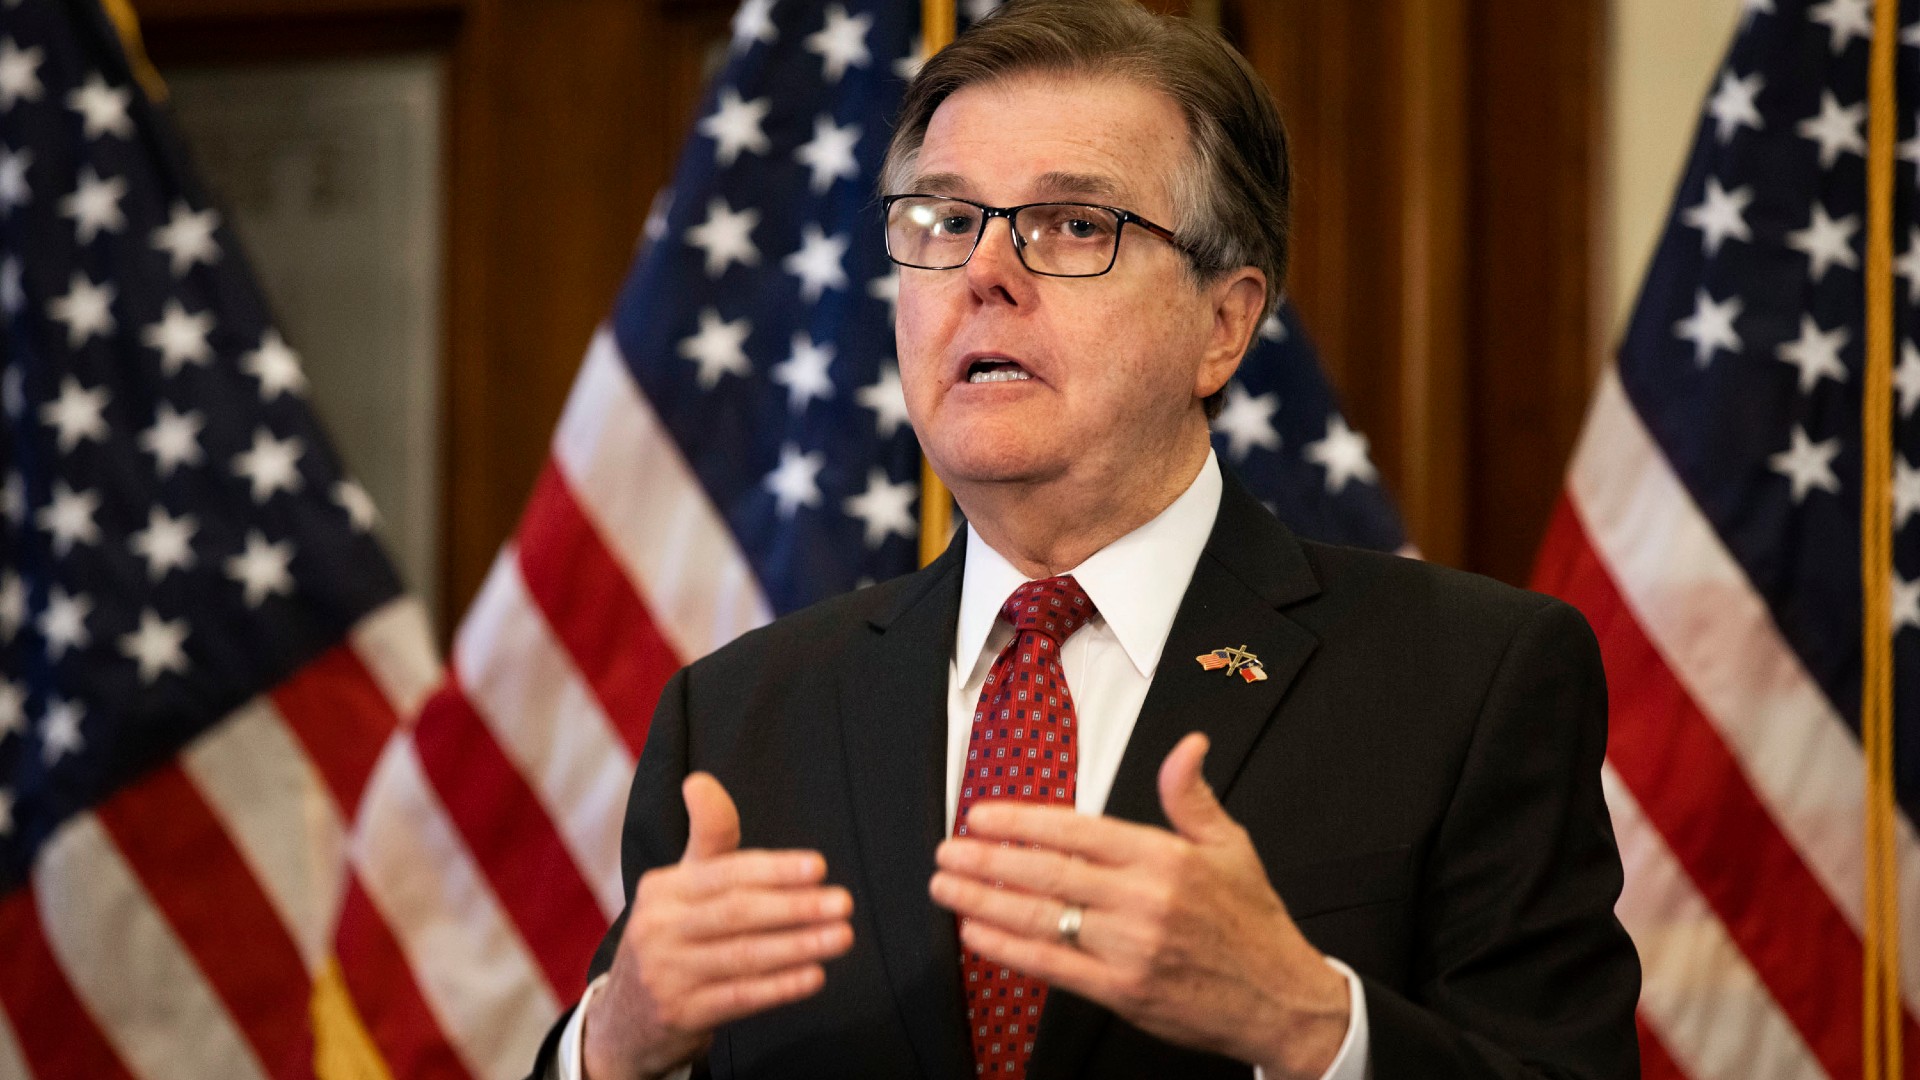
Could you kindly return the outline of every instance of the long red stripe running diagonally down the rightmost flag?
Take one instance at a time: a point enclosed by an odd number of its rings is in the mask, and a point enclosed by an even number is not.
[[[1534,588],[1580,607],[1613,701],[1607,759],[1830,1076],[1860,1070],[1860,938],[1647,640],[1561,500]],[[1920,1026],[1907,1019],[1907,1040]]]

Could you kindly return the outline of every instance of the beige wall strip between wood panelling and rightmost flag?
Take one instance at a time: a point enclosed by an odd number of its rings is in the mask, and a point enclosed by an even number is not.
[[[1609,8],[1607,250],[1601,254],[1609,356],[1667,225],[1693,127],[1740,8],[1740,0],[1613,0]]]

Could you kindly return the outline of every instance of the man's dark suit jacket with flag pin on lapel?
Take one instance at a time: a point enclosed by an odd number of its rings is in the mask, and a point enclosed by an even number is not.
[[[628,803],[628,897],[680,857],[695,769],[733,794],[743,846],[814,847],[854,897],[854,945],[826,988],[722,1028],[714,1076],[973,1076],[954,920],[927,899],[964,542],[739,638],[660,698]],[[1269,678],[1194,661],[1221,646]],[[1576,611],[1302,542],[1227,475],[1108,815],[1165,824],[1154,776],[1188,730],[1212,738],[1206,776],[1302,932],[1363,976],[1375,1078],[1638,1076],[1640,965],[1613,917],[1599,790],[1605,682]],[[1029,1074],[1250,1072],[1056,990]]]

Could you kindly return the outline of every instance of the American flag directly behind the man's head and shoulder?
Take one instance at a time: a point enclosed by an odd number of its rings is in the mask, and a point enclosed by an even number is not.
[[[622,807],[674,669],[914,569],[920,454],[874,183],[918,40],[914,0],[739,8],[451,678],[363,803],[340,963],[394,1076],[518,1076],[580,995],[626,899]],[[1217,444],[1304,532],[1404,544],[1290,311]]]

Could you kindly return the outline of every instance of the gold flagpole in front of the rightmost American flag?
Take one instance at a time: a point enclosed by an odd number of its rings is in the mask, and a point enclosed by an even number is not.
[[[1893,60],[1899,4],[1874,4],[1866,133],[1866,382],[1860,394],[1860,742],[1866,759],[1864,1080],[1901,1080],[1893,792]]]

